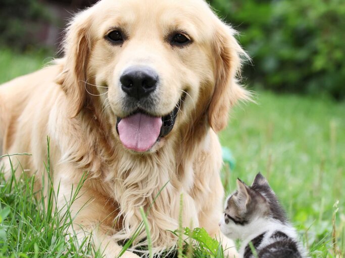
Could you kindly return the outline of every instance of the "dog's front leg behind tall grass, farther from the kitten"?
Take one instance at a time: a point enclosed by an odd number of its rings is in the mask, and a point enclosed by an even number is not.
[[[80,188],[76,198],[73,198],[78,183],[72,183],[72,180],[67,177],[54,180],[56,192],[59,188],[57,205],[62,207],[62,214],[69,212],[70,217],[73,218],[68,235],[76,236],[79,244],[85,239],[90,241],[94,250],[105,255],[106,258],[119,257],[122,246],[112,237],[118,230],[115,223],[117,207],[110,203],[109,198],[90,187],[89,179]],[[138,258],[139,256],[126,251],[121,257]]]

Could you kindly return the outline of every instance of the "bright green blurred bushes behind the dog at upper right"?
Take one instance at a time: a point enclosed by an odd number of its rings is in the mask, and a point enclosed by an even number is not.
[[[344,0],[210,0],[253,58],[257,88],[345,98]]]

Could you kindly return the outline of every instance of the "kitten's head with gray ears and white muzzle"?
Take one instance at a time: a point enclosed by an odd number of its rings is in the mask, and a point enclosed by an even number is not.
[[[224,217],[219,226],[227,237],[243,238],[249,233],[248,226],[255,227],[258,219],[274,219],[286,223],[285,212],[261,173],[257,174],[252,186],[237,179],[237,190],[227,199]]]

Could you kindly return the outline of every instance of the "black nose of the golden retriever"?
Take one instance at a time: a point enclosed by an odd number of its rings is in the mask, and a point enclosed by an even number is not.
[[[123,72],[120,82],[124,92],[139,100],[156,90],[158,74],[149,67],[130,67]]]

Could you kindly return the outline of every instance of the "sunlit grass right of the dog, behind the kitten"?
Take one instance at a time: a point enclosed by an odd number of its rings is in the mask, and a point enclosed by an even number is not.
[[[344,251],[345,103],[260,92],[258,105],[237,107],[223,146],[231,148],[236,167],[225,180],[251,183],[261,171],[276,191],[313,257],[334,257],[332,218],[337,246]],[[226,171],[226,170],[225,170]]]

